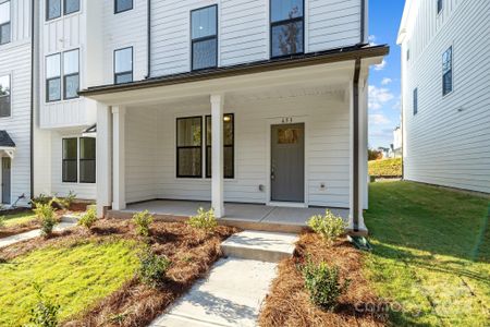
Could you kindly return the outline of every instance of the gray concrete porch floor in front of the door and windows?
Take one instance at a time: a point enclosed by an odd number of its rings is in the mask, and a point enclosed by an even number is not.
[[[189,217],[203,207],[209,209],[209,202],[194,201],[148,201],[144,203],[127,205],[123,213],[136,213],[148,210],[154,215]],[[324,214],[324,207],[278,207],[260,204],[225,203],[223,219],[228,221],[243,221],[255,223],[290,225],[305,227],[308,219],[314,215]],[[348,219],[348,209],[332,208],[333,214],[341,216],[345,221]]]

